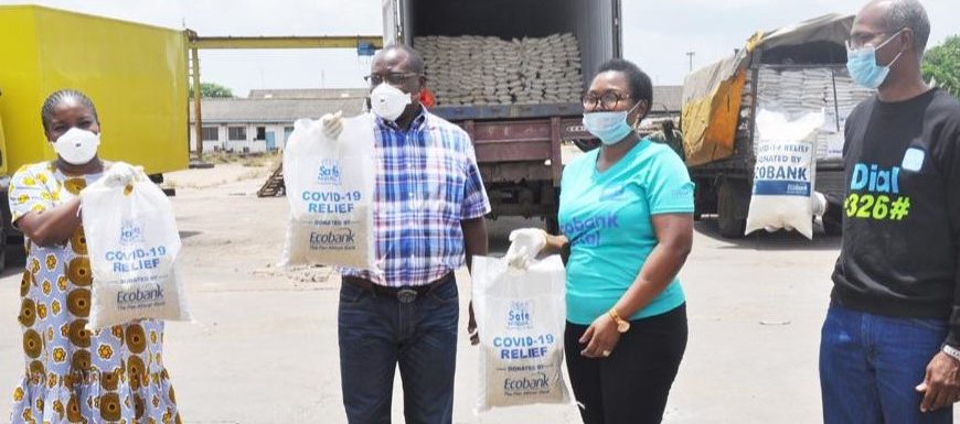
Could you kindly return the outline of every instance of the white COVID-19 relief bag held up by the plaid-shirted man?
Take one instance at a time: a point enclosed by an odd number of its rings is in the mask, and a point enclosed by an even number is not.
[[[280,265],[376,269],[374,121],[365,113],[342,122],[340,137],[331,140],[320,121],[300,119],[287,141],[290,220]]]

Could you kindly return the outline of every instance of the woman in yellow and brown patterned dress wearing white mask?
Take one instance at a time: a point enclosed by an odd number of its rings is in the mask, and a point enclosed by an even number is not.
[[[23,166],[9,191],[28,249],[18,317],[25,374],[13,391],[12,422],[180,423],[163,367],[162,322],[84,328],[93,278],[78,194],[87,184],[124,184],[140,171],[97,156],[100,124],[82,93],[52,94],[41,117],[57,159]]]

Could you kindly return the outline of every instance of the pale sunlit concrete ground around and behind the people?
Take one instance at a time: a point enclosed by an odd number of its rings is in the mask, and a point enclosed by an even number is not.
[[[257,198],[268,170],[217,165],[173,173],[183,274],[194,323],[167,327],[166,361],[184,423],[345,423],[337,349],[339,276],[279,270],[285,198]],[[494,251],[519,219],[492,222]],[[665,423],[818,423],[819,327],[840,241],[790,233],[723,240],[697,224],[681,273],[690,344]],[[12,267],[12,265],[11,265]],[[0,279],[0,417],[23,372],[19,271]],[[461,270],[461,294],[469,276]],[[466,323],[466,302],[461,295]],[[462,326],[462,325],[461,325]],[[524,406],[477,416],[477,349],[458,346],[455,423],[578,423],[575,406]],[[398,384],[395,384],[395,388]],[[8,390],[10,389],[10,390]],[[403,402],[395,390],[394,417]],[[2,422],[0,420],[0,422]]]

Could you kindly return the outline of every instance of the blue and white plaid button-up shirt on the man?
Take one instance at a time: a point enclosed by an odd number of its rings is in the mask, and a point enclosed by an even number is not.
[[[460,221],[490,213],[470,137],[422,109],[409,130],[376,118],[374,237],[378,270],[343,275],[415,286],[463,265]]]

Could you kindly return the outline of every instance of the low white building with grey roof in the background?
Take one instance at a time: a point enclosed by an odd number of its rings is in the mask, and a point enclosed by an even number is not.
[[[203,151],[262,153],[284,149],[300,118],[319,119],[342,110],[354,116],[363,110],[367,89],[252,90],[247,98],[202,99]],[[190,104],[190,150],[196,151]]]

